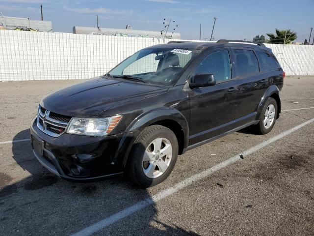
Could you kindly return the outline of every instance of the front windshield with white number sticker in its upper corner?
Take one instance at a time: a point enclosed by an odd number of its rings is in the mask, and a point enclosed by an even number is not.
[[[177,81],[183,68],[196,53],[196,50],[178,48],[143,49],[109,71],[109,75],[170,86]]]

